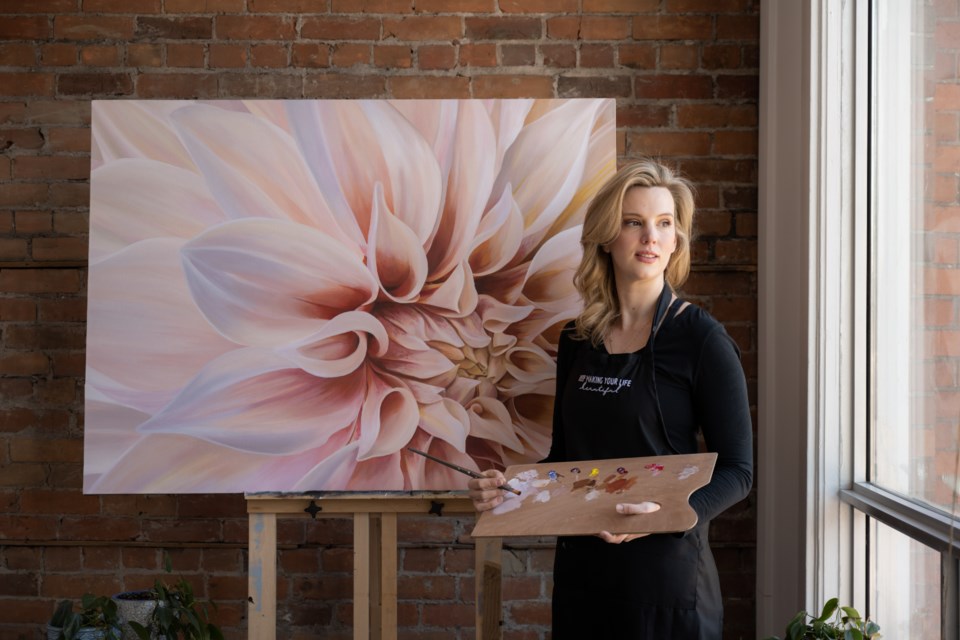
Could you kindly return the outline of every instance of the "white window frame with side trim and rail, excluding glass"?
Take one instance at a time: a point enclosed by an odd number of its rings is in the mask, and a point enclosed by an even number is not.
[[[760,12],[759,637],[834,596],[871,613],[868,516],[942,554],[960,637],[955,523],[868,477],[870,2]]]

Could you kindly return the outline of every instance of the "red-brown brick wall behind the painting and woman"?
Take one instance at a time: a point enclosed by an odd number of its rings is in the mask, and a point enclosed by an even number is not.
[[[0,640],[145,586],[164,550],[245,637],[240,496],[80,492],[92,98],[614,97],[618,153],[699,184],[685,293],[756,383],[759,0],[0,0]],[[712,529],[754,637],[755,501]],[[402,518],[400,636],[472,637],[470,519]],[[347,520],[281,520],[279,637],[347,638]],[[551,540],[504,553],[504,637],[545,638]]]

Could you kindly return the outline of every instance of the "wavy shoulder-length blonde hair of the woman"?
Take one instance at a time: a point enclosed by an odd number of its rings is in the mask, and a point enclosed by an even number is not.
[[[605,245],[616,240],[623,224],[623,198],[634,187],[663,187],[674,202],[677,249],[667,263],[665,278],[671,288],[682,285],[690,273],[690,235],[693,229],[693,186],[669,167],[643,159],[621,168],[597,192],[583,221],[580,244],[583,258],[573,283],[583,299],[574,336],[599,346],[603,336],[620,315],[613,262]]]

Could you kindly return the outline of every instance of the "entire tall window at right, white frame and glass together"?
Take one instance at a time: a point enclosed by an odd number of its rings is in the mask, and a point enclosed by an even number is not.
[[[837,596],[957,640],[960,2],[761,25],[758,634]]]

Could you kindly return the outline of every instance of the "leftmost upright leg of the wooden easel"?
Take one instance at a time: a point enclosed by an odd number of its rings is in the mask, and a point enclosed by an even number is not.
[[[277,637],[277,514],[250,514],[250,575],[247,591],[250,640]]]

